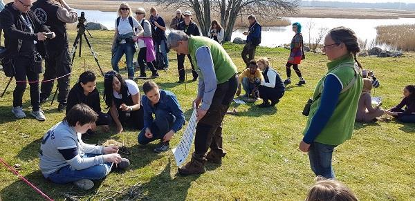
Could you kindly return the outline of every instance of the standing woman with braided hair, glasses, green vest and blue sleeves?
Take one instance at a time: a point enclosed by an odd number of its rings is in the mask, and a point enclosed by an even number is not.
[[[328,71],[317,83],[304,138],[299,149],[308,152],[311,170],[324,178],[335,178],[331,157],[334,148],[351,138],[362,91],[362,65],[353,30],[333,28],[324,39]]]

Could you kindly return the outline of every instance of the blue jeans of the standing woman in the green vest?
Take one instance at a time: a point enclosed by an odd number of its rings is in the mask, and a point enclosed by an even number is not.
[[[333,156],[335,146],[313,142],[308,152],[311,170],[315,175],[321,175],[324,178],[335,178],[333,166],[331,166],[331,157]]]

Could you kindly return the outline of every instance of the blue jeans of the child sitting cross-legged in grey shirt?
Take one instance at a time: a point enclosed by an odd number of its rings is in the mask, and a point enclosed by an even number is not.
[[[86,154],[84,157],[94,157],[99,154]],[[58,171],[51,173],[48,179],[56,184],[67,184],[77,180],[100,180],[111,171],[111,162],[91,166],[83,170],[73,170],[70,165],[64,166]]]

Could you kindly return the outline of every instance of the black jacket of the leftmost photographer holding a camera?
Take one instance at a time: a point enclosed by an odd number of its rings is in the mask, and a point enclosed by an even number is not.
[[[21,52],[21,46],[24,41],[37,41],[38,32],[50,32],[48,27],[40,23],[32,10],[28,10],[27,15],[33,23],[34,32],[25,32],[25,25],[20,15],[21,12],[13,8],[12,2],[7,3],[5,8],[0,12],[0,24],[4,32],[4,46],[15,55],[19,55],[19,52]],[[46,50],[44,42],[37,41],[36,48],[45,57]]]

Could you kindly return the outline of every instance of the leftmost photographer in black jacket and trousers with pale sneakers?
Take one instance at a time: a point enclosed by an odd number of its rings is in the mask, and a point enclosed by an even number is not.
[[[13,91],[12,113],[19,119],[26,117],[22,98],[26,90],[26,77],[30,85],[30,115],[44,121],[44,112],[40,109],[39,74],[42,73],[42,57],[46,55],[44,41],[47,35],[55,37],[46,25],[37,19],[30,10],[32,0],[15,0],[7,3],[0,12],[0,24],[4,31],[4,44],[10,52],[16,87]]]

